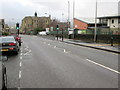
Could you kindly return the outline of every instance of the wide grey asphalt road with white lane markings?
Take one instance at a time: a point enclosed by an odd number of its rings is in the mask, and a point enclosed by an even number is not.
[[[118,88],[118,55],[64,42],[22,36],[5,62],[9,88]]]

